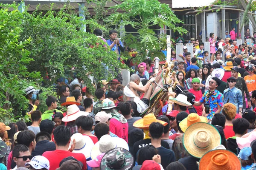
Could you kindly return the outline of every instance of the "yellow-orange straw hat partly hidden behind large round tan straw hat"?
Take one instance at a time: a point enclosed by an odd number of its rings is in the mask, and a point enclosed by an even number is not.
[[[187,116],[185,119],[183,119],[180,123],[179,123],[179,126],[180,126],[180,129],[185,132],[186,129],[194,124],[194,123],[198,123],[198,122],[205,122],[207,123],[208,120],[206,117],[203,117],[203,116],[198,116],[197,113],[190,113],[189,116]]]

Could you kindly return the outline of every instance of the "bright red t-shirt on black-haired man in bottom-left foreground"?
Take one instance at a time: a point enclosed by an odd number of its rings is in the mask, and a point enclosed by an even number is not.
[[[43,153],[44,157],[46,157],[50,162],[50,169],[49,170],[55,170],[59,167],[60,162],[62,159],[67,158],[68,156],[72,156],[76,158],[78,161],[81,161],[84,166],[82,167],[82,170],[86,170],[86,159],[83,153],[73,153],[67,150],[54,150],[54,151],[46,151]]]

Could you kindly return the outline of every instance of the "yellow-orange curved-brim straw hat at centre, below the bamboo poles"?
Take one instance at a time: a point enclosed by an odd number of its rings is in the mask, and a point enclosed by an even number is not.
[[[162,125],[167,125],[166,122],[162,121],[162,120],[158,120],[154,114],[152,113],[148,113],[147,115],[145,115],[142,119],[139,119],[137,121],[134,122],[133,126],[134,127],[137,127],[137,128],[140,128],[140,129],[148,129],[149,125],[152,123],[152,122],[159,122],[161,123]]]

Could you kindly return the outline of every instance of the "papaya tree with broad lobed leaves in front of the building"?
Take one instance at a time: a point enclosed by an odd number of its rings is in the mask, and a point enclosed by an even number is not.
[[[187,31],[182,27],[175,26],[182,23],[172,9],[158,0],[124,0],[120,5],[112,7],[114,11],[122,10],[123,13],[115,12],[108,17],[108,21],[118,26],[131,25],[137,29],[138,35],[128,34],[124,41],[131,48],[137,48],[139,54],[137,59],[144,60],[146,56],[160,57],[157,51],[160,50],[160,37],[157,37],[156,30],[164,26],[169,27],[179,34]],[[120,21],[122,20],[122,23]],[[148,52],[149,51],[149,52]],[[161,54],[163,57],[163,55]]]

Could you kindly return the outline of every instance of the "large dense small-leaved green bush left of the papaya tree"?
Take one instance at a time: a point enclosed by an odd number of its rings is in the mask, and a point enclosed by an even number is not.
[[[31,51],[30,57],[34,59],[28,65],[28,70],[40,71],[42,75],[48,73],[51,82],[46,83],[49,84],[55,83],[59,77],[72,77],[76,72],[90,85],[88,73],[96,80],[103,78],[105,68],[102,63],[106,63],[110,69],[113,69],[113,65],[122,67],[116,53],[100,45],[105,42],[95,35],[82,31],[80,28],[85,22],[77,17],[76,11],[66,10],[66,7],[60,11],[49,10],[46,14],[24,12],[21,37],[32,38],[26,49]],[[90,23],[93,24],[93,20]],[[112,77],[109,74],[108,78]]]

